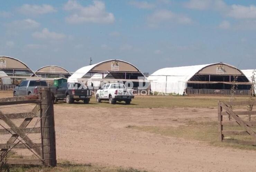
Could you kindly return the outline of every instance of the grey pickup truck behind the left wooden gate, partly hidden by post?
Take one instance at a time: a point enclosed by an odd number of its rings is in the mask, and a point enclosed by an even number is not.
[[[38,94],[40,89],[48,87],[45,80],[26,79],[13,89],[13,96],[26,96]],[[52,94],[56,94],[57,88],[51,87]],[[53,96],[54,99],[54,96]]]

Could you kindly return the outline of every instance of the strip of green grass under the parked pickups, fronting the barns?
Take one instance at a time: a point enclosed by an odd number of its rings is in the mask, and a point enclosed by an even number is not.
[[[74,104],[66,104],[60,101],[56,106],[70,106],[70,107],[108,107],[108,108],[164,108],[164,107],[217,107],[218,101],[229,101],[229,97],[221,96],[135,96],[130,105],[125,105],[125,102],[117,102],[116,105],[109,104],[108,101],[97,103],[93,97],[89,104],[83,104],[82,101]],[[247,100],[246,97],[239,97],[239,100]]]

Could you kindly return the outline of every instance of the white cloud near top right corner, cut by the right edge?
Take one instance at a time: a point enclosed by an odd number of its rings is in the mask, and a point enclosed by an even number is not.
[[[255,19],[256,18],[256,6],[241,6],[241,5],[232,5],[228,16],[236,19]]]

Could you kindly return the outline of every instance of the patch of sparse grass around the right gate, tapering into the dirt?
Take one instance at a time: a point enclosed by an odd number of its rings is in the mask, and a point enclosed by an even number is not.
[[[224,143],[218,140],[218,122],[196,122],[189,121],[184,126],[179,127],[158,127],[158,126],[129,126],[127,128],[136,129],[150,133],[156,133],[162,136],[184,138],[188,140],[198,140],[209,143],[217,147],[231,147],[246,150],[256,150],[256,146],[241,145],[236,143]],[[256,130],[255,128],[253,128]],[[242,127],[227,126],[225,130],[243,130]],[[226,137],[226,136],[225,136]],[[230,135],[229,140],[247,140],[252,141],[253,137],[249,135]]]

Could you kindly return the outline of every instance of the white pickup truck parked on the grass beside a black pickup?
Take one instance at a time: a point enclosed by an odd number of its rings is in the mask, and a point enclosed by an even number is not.
[[[126,105],[134,98],[133,89],[126,89],[124,84],[105,84],[95,94],[98,103],[108,100],[110,104],[125,101]]]

